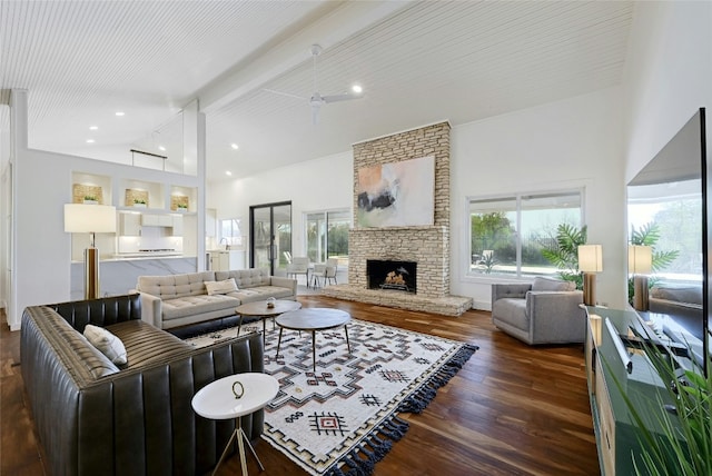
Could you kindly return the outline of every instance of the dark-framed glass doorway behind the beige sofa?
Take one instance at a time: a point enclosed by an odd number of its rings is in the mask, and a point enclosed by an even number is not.
[[[249,264],[269,268],[275,276],[285,271],[291,256],[291,201],[249,207]]]

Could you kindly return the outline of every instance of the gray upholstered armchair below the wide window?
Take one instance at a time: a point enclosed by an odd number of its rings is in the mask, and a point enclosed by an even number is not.
[[[583,291],[571,281],[534,278],[532,284],[492,285],[492,323],[530,344],[583,343]]]

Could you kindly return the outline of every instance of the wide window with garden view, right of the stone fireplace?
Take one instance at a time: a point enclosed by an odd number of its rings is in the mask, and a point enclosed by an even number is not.
[[[581,227],[582,194],[568,190],[469,198],[469,275],[555,275],[542,255],[561,224]]]

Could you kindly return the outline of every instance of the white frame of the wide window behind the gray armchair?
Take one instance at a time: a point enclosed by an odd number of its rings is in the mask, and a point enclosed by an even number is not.
[[[560,195],[560,194],[577,194],[580,198],[580,208],[581,208],[581,221],[578,227],[583,227],[586,222],[585,220],[585,200],[586,200],[586,187],[585,186],[570,186],[562,188],[551,188],[551,189],[542,189],[542,190],[527,190],[527,191],[516,191],[508,194],[492,194],[492,195],[469,195],[465,197],[464,200],[464,227],[463,227],[463,251],[461,256],[461,264],[464,266],[463,268],[463,280],[466,282],[482,282],[482,284],[491,284],[491,282],[524,282],[531,281],[535,275],[526,275],[522,274],[522,244],[521,244],[521,228],[522,228],[522,198],[526,196],[545,196],[545,195]],[[473,202],[477,201],[490,201],[490,200],[512,200],[516,202],[516,274],[483,274],[483,272],[472,272],[471,270],[471,261],[472,261],[472,217],[471,217],[471,206]]]

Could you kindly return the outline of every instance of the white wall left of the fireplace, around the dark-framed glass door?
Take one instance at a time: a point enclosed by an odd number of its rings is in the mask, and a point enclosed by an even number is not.
[[[236,180],[210,184],[208,208],[219,220],[240,218],[248,235],[249,207],[291,200],[293,254],[306,252],[303,215],[353,207],[354,159],[352,151],[273,169]]]

